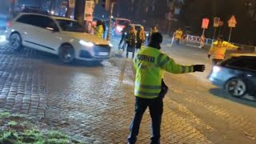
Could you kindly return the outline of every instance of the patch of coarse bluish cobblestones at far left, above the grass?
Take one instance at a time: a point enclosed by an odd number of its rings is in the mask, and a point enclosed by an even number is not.
[[[0,108],[44,118],[46,88],[37,53],[0,44]]]

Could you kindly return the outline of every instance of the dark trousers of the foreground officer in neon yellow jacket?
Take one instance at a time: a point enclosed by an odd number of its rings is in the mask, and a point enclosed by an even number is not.
[[[142,122],[142,116],[149,106],[150,116],[152,119],[152,137],[151,144],[160,143],[160,127],[162,121],[162,111],[163,102],[162,98],[146,99],[146,98],[136,98],[135,100],[135,115],[133,121],[130,123],[130,135],[128,137],[128,142],[135,143],[137,140],[138,130],[140,123]]]

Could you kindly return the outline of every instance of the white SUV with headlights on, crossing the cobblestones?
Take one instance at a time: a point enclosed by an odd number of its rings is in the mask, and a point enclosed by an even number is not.
[[[42,14],[19,14],[6,30],[14,49],[22,46],[58,54],[63,62],[74,59],[100,61],[110,58],[111,43],[86,34],[73,19]]]

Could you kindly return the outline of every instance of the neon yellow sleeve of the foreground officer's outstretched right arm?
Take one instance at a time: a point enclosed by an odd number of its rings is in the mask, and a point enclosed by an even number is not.
[[[191,73],[194,71],[193,66],[180,65],[174,62],[174,59],[163,53],[159,54],[157,63],[163,70],[173,74]]]

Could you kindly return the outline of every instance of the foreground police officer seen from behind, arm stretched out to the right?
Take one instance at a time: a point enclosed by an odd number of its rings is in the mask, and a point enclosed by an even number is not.
[[[160,127],[162,122],[163,101],[168,87],[163,82],[164,71],[174,74],[191,73],[195,71],[203,72],[204,65],[182,66],[174,62],[167,54],[160,51],[162,34],[157,32],[151,35],[150,43],[142,47],[134,58],[134,68],[136,70],[134,95],[135,114],[130,123],[130,134],[128,143],[134,144],[137,140],[138,130],[142,121],[142,116],[147,107],[150,109],[152,120],[151,144],[160,143]]]

